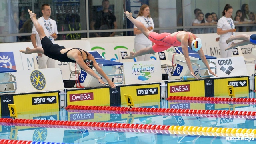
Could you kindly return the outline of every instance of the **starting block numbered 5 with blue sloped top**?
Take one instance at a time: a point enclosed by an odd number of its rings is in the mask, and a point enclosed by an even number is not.
[[[102,68],[102,70],[105,72],[105,74],[108,76],[108,78],[110,80],[112,80],[112,78],[114,76],[122,76],[121,82],[114,82],[114,84],[122,84],[123,83],[123,81],[124,81],[123,70],[120,68],[120,66],[122,66],[123,63],[115,62],[115,61],[111,61],[111,60],[105,60],[103,58],[103,56],[101,56],[98,51],[89,51],[89,53],[92,54],[92,56],[94,56],[97,64]],[[117,66],[119,66],[119,67],[117,67]],[[117,69],[121,71],[120,74],[115,74]],[[98,72],[95,69],[92,69],[92,70],[94,70],[94,72],[98,76],[100,76],[100,78],[102,78],[102,76],[100,74],[98,74]],[[98,80],[96,78],[87,74],[84,70],[81,70],[78,80],[79,80],[80,86],[83,86],[83,87],[103,86],[102,84],[100,84],[98,82]],[[105,84],[107,84],[107,82],[104,78],[102,78],[102,80]]]

